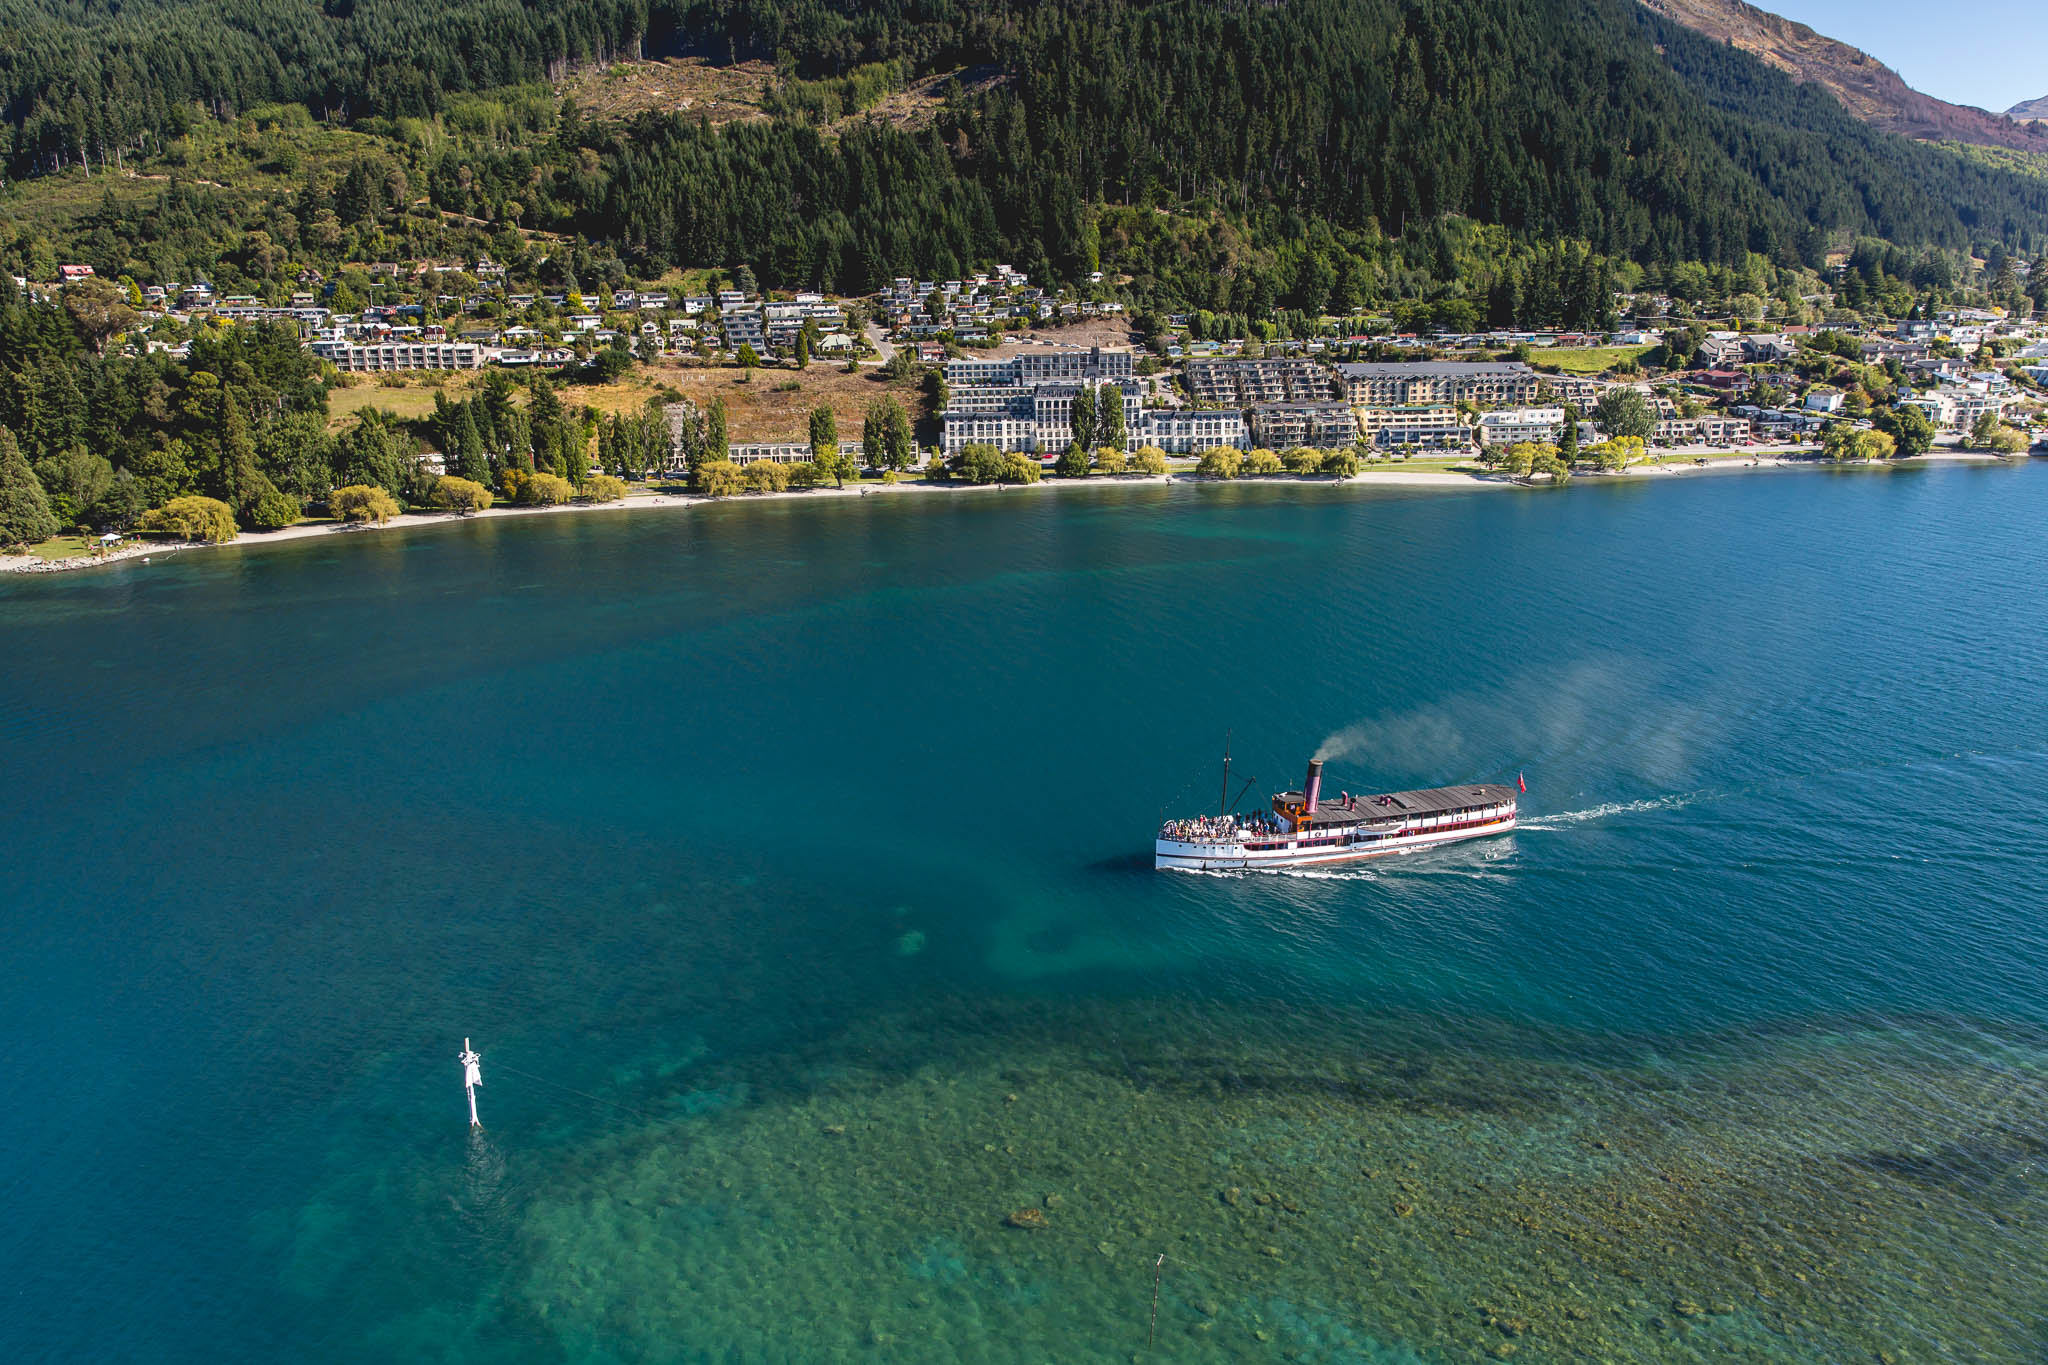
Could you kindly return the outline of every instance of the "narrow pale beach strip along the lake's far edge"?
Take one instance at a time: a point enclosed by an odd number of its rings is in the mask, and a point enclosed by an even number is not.
[[[1642,465],[1636,469],[1626,469],[1620,473],[1587,473],[1573,475],[1573,479],[1585,479],[1591,483],[1620,483],[1630,479],[1669,479],[1688,475],[1733,475],[1733,473],[1763,473],[1763,471],[1798,471],[1798,469],[1905,469],[1915,463],[1962,463],[1962,465],[2003,465],[2011,460],[2023,460],[2025,456],[2001,456],[1985,452],[1964,452],[1964,450],[1929,450],[1927,454],[1913,456],[1913,460],[1892,460],[1872,465],[1847,463],[1835,465],[1819,456],[1794,456],[1788,452],[1757,452],[1739,456],[1706,456],[1706,465]],[[258,548],[266,544],[285,544],[289,540],[309,540],[313,536],[362,536],[393,530],[418,530],[424,526],[446,526],[455,522],[479,522],[489,518],[516,518],[516,516],[559,516],[559,514],[590,514],[590,512],[645,512],[651,508],[686,510],[700,508],[707,503],[762,503],[762,501],[793,501],[793,499],[844,499],[844,497],[866,497],[866,495],[903,495],[903,493],[1038,493],[1051,489],[1102,489],[1102,487],[1143,487],[1143,485],[1174,485],[1174,483],[1210,483],[1210,479],[1198,477],[1194,471],[1174,471],[1165,475],[1092,475],[1087,479],[1044,479],[1040,483],[862,483],[852,487],[831,487],[831,489],[801,489],[782,493],[741,493],[737,497],[700,497],[696,493],[627,493],[618,501],[608,503],[559,503],[553,508],[487,508],[485,512],[471,512],[469,516],[457,512],[401,512],[383,526],[371,524],[334,524],[334,522],[307,522],[299,526],[287,526],[283,530],[258,530],[242,532],[233,540],[219,544],[193,542],[193,540],[147,540],[125,544],[106,555],[82,555],[76,559],[37,559],[35,555],[0,555],[0,573],[74,573],[84,569],[104,569],[109,565],[125,561],[150,561],[158,555],[180,555],[186,551],[217,551],[217,548]],[[1292,487],[1384,487],[1384,489],[1522,489],[1540,491],[1548,489],[1548,483],[1518,483],[1507,475],[1491,473],[1466,473],[1452,469],[1366,469],[1350,479],[1323,479],[1319,475],[1249,475],[1229,479],[1229,483],[1257,483],[1257,485],[1292,485]]]

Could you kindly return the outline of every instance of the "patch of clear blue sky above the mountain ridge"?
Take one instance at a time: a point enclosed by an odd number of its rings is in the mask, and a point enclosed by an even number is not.
[[[2048,2],[1749,0],[1862,47],[1915,90],[2003,113],[2048,94]]]

